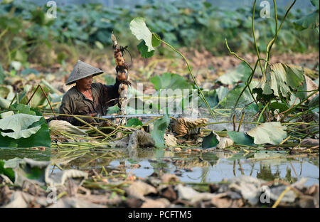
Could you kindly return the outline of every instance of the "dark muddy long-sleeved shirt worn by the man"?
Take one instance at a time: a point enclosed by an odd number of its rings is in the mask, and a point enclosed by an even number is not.
[[[59,112],[69,115],[88,115],[97,113],[97,115],[106,115],[107,107],[111,107],[117,103],[117,100],[112,100],[119,97],[118,93],[119,83],[114,85],[104,85],[102,83],[92,83],[91,92],[92,100],[89,100],[85,95],[80,93],[76,86],[70,88],[65,95],[60,105]],[[110,100],[112,100],[110,102]],[[83,125],[82,122],[76,120],[74,117],[59,116],[59,120],[65,120],[72,125]],[[82,118],[85,122],[99,122],[92,118]]]

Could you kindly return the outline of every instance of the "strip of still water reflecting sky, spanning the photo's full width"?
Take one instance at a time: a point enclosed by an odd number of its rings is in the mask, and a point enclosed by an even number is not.
[[[0,149],[0,159],[28,157],[50,160],[63,169],[95,169],[121,171],[142,178],[160,172],[176,174],[191,183],[218,182],[233,176],[250,175],[266,181],[282,179],[290,183],[306,177],[306,185],[319,184],[319,155],[290,157],[284,152],[251,154],[219,152],[172,152],[139,149],[137,157],[129,157],[125,149],[65,149],[46,151],[33,149]],[[272,158],[272,159],[271,159]],[[52,166],[53,171],[58,171]]]

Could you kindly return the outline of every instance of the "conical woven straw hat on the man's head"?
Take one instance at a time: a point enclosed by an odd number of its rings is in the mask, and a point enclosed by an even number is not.
[[[80,60],[75,64],[75,67],[73,68],[73,71],[69,75],[69,78],[67,80],[67,83],[65,85],[70,85],[75,83],[75,81],[80,80],[82,78],[86,78],[90,75],[100,75],[103,71],[99,68],[95,68],[92,65],[89,65],[87,63],[84,63]]]

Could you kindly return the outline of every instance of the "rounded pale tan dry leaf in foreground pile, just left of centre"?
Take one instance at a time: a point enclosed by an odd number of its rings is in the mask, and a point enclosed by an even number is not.
[[[126,189],[126,192],[129,197],[145,200],[144,195],[156,194],[156,189],[154,186],[146,184],[142,181],[135,181]]]

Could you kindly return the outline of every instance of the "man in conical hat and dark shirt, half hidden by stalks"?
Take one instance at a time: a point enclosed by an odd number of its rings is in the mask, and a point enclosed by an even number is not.
[[[75,83],[75,86],[63,95],[59,112],[68,115],[86,115],[90,117],[106,115],[107,108],[117,104],[119,80],[116,78],[114,85],[92,83],[92,78],[102,73],[103,71],[99,68],[78,60],[67,83],[65,83],[65,85]],[[72,125],[83,125],[75,117],[59,116],[58,119],[68,121]],[[94,118],[81,119],[88,123],[100,122]]]

